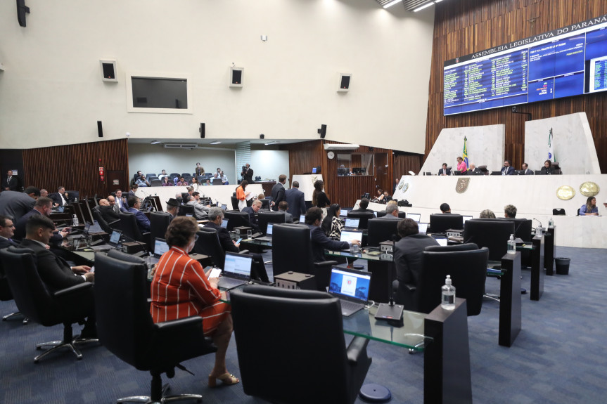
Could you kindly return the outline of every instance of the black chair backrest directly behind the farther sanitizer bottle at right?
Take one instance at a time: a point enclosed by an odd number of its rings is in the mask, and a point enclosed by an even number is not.
[[[489,259],[500,261],[508,250],[508,240],[514,234],[514,223],[501,219],[468,219],[464,228],[464,242],[489,249]]]

